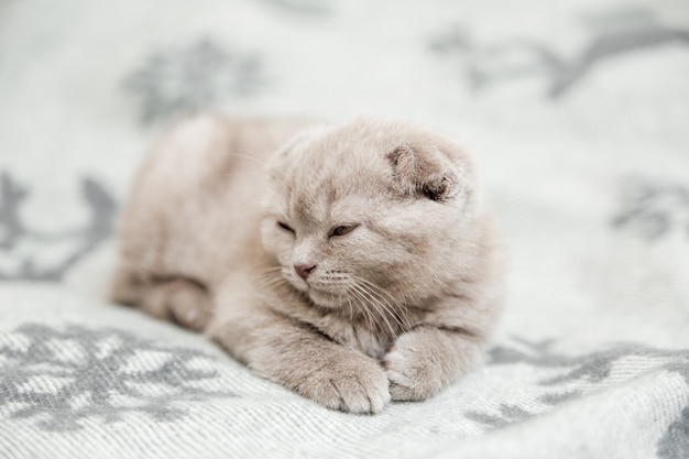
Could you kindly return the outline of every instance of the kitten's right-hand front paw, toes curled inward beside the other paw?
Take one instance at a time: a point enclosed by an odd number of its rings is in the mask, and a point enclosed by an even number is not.
[[[384,359],[390,394],[395,402],[423,401],[445,386],[440,363],[414,345],[414,339],[398,339]]]

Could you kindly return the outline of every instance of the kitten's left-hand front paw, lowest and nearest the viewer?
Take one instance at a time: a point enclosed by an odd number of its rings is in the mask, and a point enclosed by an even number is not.
[[[390,402],[387,378],[376,361],[350,354],[311,373],[296,391],[329,408],[380,413]]]

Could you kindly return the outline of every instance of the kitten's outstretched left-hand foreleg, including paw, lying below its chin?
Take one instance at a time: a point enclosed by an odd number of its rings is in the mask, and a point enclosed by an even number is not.
[[[256,374],[350,413],[378,413],[390,401],[387,378],[369,356],[248,295],[221,296],[218,304],[227,308],[218,312],[207,335]]]

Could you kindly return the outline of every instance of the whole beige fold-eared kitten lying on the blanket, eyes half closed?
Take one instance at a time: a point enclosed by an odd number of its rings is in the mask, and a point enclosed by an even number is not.
[[[393,122],[182,123],[141,170],[120,249],[114,300],[353,413],[457,380],[502,292],[468,153]]]

